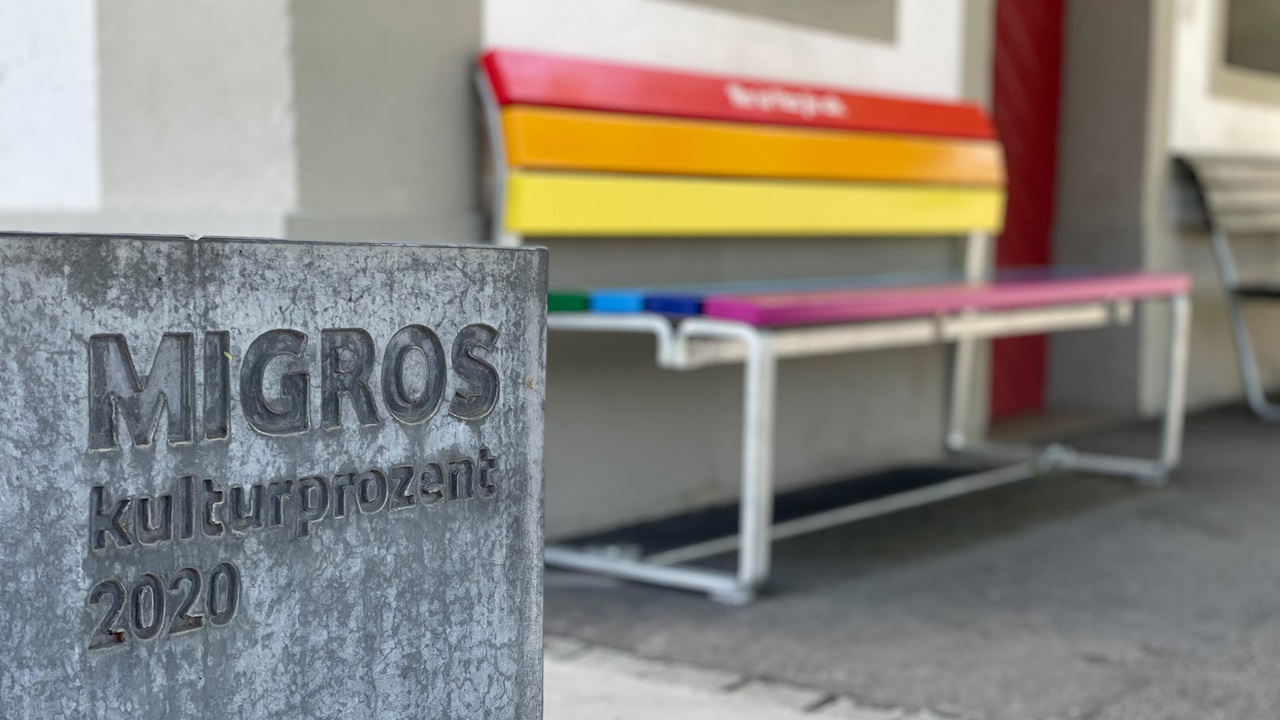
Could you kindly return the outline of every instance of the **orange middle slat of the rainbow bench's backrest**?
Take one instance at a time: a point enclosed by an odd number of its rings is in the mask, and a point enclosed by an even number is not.
[[[553,108],[503,110],[517,168],[1002,184],[1000,143],[791,129]]]

